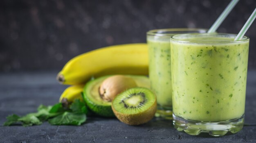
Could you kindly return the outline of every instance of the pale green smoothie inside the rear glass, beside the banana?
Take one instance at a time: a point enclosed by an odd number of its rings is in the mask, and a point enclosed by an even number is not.
[[[170,42],[148,40],[150,87],[157,96],[157,104],[171,110],[171,52]]]

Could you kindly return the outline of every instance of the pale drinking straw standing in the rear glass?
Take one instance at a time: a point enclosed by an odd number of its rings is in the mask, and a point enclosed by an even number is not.
[[[218,19],[214,22],[214,24],[211,26],[211,28],[208,30],[208,33],[213,33],[215,32],[218,27],[220,26],[220,24],[222,24],[222,22],[225,20],[225,18],[227,17],[227,15],[229,15],[230,11],[235,7],[235,5],[237,4],[239,0],[231,0],[231,2],[229,3],[229,5],[226,7],[226,9],[220,14],[220,16],[218,17]]]

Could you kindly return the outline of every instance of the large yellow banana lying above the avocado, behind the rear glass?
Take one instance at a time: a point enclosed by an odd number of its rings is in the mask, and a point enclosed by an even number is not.
[[[113,45],[86,52],[66,63],[57,80],[64,85],[84,84],[109,74],[148,75],[146,43]]]

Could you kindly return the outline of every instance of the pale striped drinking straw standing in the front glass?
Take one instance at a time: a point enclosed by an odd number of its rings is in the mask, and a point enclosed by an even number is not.
[[[243,28],[240,30],[240,32],[238,33],[234,41],[241,40],[243,38],[248,28],[252,25],[252,22],[254,22],[255,18],[256,18],[256,8],[252,12],[251,16],[249,17],[249,19],[247,20]]]

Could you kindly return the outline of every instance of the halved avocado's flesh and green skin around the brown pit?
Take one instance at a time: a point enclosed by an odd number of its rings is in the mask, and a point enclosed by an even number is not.
[[[150,88],[150,81],[146,76],[124,75],[133,78],[137,87]],[[87,106],[96,113],[103,117],[115,117],[111,108],[111,102],[107,102],[99,95],[99,87],[101,83],[110,76],[102,76],[100,78],[87,82],[83,88],[83,98]]]

